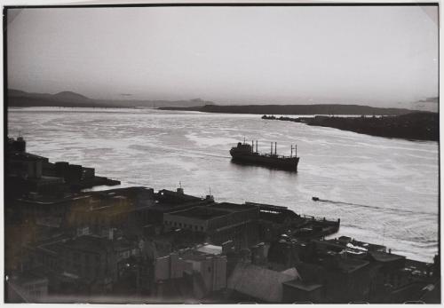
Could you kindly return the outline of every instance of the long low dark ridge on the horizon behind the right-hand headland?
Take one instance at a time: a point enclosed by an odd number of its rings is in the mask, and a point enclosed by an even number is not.
[[[381,108],[340,104],[244,106],[206,105],[202,107],[161,107],[159,109],[253,115],[405,115],[413,111],[402,108]]]

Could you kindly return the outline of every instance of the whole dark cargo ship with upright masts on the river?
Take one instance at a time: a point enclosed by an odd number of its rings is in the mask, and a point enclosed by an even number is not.
[[[296,145],[291,146],[291,154],[289,156],[284,156],[277,154],[276,142],[274,142],[274,146],[273,142],[271,143],[270,153],[263,154],[258,152],[258,140],[256,141],[256,150],[254,141],[251,141],[250,145],[244,140],[243,143],[239,142],[237,146],[232,147],[230,154],[233,157],[234,162],[261,165],[281,170],[297,171],[297,163],[299,162]]]

